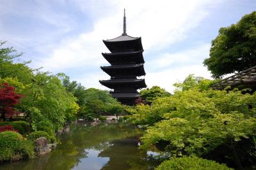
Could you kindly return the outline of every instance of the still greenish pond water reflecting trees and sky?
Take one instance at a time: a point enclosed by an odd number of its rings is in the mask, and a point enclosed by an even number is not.
[[[70,125],[56,150],[35,159],[0,164],[1,169],[154,169],[154,152],[138,149],[140,131],[126,124]]]

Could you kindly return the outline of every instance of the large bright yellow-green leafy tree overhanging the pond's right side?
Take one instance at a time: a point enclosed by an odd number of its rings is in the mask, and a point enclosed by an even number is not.
[[[136,116],[141,122],[145,118],[155,118],[156,123],[148,127],[141,138],[144,149],[165,143],[165,150],[172,157],[200,157],[219,146],[226,146],[228,152],[224,154],[232,153],[232,160],[241,168],[236,147],[239,141],[255,136],[255,97],[255,93],[243,94],[238,90],[177,91],[168,99],[157,99],[152,108],[143,109],[148,115],[138,111],[132,117]],[[252,108],[248,108],[250,104]],[[255,145],[255,141],[252,143]],[[245,154],[249,157],[253,151]]]

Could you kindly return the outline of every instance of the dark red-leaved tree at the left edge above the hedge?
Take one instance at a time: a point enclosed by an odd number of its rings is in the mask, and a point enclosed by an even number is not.
[[[19,115],[19,111],[15,110],[14,106],[19,104],[22,95],[15,92],[15,87],[8,83],[3,83],[0,87],[0,113],[4,120],[6,117]]]

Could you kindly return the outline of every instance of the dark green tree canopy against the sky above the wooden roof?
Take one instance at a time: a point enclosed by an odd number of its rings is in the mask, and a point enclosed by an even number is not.
[[[256,11],[244,15],[237,24],[220,28],[204,65],[214,78],[256,65]]]

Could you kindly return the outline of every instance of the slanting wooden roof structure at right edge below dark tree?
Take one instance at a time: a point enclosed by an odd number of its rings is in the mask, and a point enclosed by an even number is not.
[[[250,67],[249,69],[215,83],[212,85],[212,89],[223,90],[228,86],[234,88],[239,85],[243,85],[244,87],[256,87],[256,66]]]

